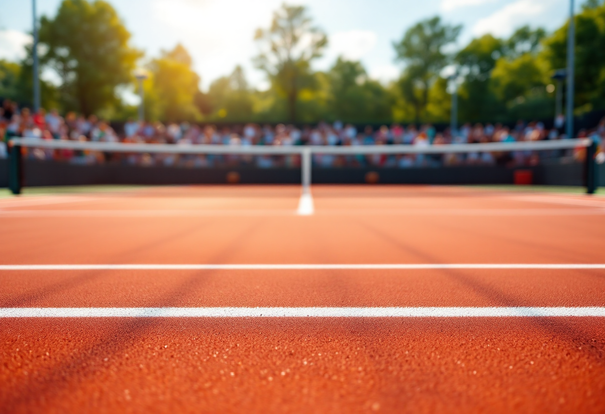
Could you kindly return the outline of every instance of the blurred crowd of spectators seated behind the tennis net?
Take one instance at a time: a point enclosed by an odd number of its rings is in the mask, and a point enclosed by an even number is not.
[[[482,125],[465,124],[452,134],[449,128],[439,132],[432,125],[402,126],[397,123],[388,127],[365,127],[358,129],[352,124],[341,122],[321,122],[313,127],[302,128],[293,125],[195,125],[186,122],[168,123],[137,122],[128,120],[116,132],[110,123],[96,116],[84,117],[70,112],[65,117],[56,110],[39,110],[31,113],[27,108],[19,110],[10,100],[4,100],[0,109],[0,138],[13,136],[37,137],[48,140],[77,140],[90,142],[130,142],[212,144],[212,145],[414,145],[431,146],[446,143],[518,142],[566,139],[557,128],[548,129],[541,122],[518,122],[513,128],[496,123]],[[590,131],[580,131],[578,137],[590,136],[598,142],[605,139],[605,118]],[[1,145],[0,145],[1,146]],[[0,157],[5,156],[5,146],[0,148]],[[462,155],[371,155],[333,156],[315,154],[313,162],[318,166],[386,166],[410,168],[413,166],[442,165],[535,165],[543,157],[571,155],[564,151],[536,153],[516,151],[509,154],[468,153]],[[220,156],[220,155],[175,155],[175,154],[111,154],[97,151],[71,150],[28,150],[28,157],[48,160],[65,160],[73,163],[123,162],[133,165],[179,165],[209,167],[215,165],[252,164],[261,168],[272,166],[295,166],[299,162],[295,156]]]

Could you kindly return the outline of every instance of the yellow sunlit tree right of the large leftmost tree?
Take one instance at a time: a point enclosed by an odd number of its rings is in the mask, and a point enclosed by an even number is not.
[[[200,77],[192,64],[191,56],[181,44],[172,50],[163,50],[160,57],[149,64],[151,91],[148,100],[155,105],[160,119],[169,122],[201,119],[195,105],[200,93]]]

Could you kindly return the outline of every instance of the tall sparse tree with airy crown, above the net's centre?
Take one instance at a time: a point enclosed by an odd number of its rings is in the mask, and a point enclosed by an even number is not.
[[[327,37],[312,25],[305,7],[283,4],[273,13],[270,28],[257,30],[255,40],[261,46],[255,65],[286,98],[290,122],[295,122],[299,94],[313,88],[310,64],[321,57]]]

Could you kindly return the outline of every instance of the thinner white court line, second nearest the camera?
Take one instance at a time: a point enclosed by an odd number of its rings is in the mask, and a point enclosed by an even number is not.
[[[403,264],[0,264],[0,271],[73,270],[412,270],[605,269],[605,263],[403,263]]]

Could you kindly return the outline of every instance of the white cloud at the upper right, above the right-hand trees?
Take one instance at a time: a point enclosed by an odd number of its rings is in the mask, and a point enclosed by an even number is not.
[[[473,27],[473,35],[491,33],[494,36],[508,36],[516,27],[530,24],[536,16],[546,10],[543,0],[517,0],[505,5],[492,15],[480,19]]]

